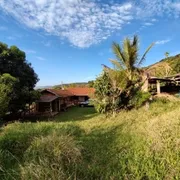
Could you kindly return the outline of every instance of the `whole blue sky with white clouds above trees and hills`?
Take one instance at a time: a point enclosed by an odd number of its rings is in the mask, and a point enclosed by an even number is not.
[[[180,53],[180,0],[0,0],[0,41],[16,45],[37,86],[94,80],[112,43],[138,35],[143,66]]]

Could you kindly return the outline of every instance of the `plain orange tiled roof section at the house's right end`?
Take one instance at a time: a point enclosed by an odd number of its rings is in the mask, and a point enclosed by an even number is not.
[[[88,87],[74,87],[68,88],[67,91],[69,91],[74,96],[89,96],[90,94],[94,94],[95,89]]]

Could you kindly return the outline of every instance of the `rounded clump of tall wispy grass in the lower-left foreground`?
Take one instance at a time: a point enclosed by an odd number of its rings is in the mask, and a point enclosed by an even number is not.
[[[75,179],[76,166],[81,160],[81,148],[71,136],[54,133],[36,138],[24,155],[21,178]]]

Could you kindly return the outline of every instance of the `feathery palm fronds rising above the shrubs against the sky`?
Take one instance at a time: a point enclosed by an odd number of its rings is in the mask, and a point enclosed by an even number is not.
[[[138,36],[134,36],[132,40],[126,38],[123,41],[122,47],[118,43],[113,43],[112,49],[116,55],[116,60],[111,60],[111,62],[120,71],[124,71],[127,80],[133,81],[137,74],[140,73],[139,68],[144,62],[147,53],[153,47],[152,43],[143,56],[139,58],[139,39]]]

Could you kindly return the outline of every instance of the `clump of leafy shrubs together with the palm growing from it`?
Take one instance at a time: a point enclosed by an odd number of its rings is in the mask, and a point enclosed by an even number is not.
[[[113,43],[112,49],[117,59],[111,62],[115,68],[104,66],[105,72],[94,83],[94,102],[98,112],[115,114],[119,109],[138,107],[148,100],[149,94],[145,95],[141,91],[143,70],[140,69],[140,65],[153,45],[151,44],[139,58],[137,36],[134,36],[133,40],[126,38],[123,48]]]

